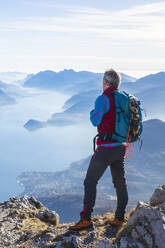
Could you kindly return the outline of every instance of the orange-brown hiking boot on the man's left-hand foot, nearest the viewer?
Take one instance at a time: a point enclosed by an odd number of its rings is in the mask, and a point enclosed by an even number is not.
[[[93,222],[91,220],[85,220],[85,219],[80,220],[75,225],[69,227],[70,231],[72,232],[79,232],[93,228],[94,228]]]

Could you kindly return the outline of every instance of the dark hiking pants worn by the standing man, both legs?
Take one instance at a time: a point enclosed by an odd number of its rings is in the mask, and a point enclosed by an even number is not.
[[[103,147],[100,146],[91,158],[86,178],[84,180],[84,211],[81,216],[85,219],[91,218],[91,213],[96,200],[96,186],[110,166],[112,181],[117,194],[117,209],[115,217],[124,219],[125,208],[128,203],[128,191],[124,172],[125,146]]]

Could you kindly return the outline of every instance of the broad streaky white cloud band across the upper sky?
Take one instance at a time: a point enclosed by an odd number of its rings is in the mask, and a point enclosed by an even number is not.
[[[39,4],[39,3],[38,3]],[[66,6],[40,2],[43,6],[64,8],[65,16],[27,17],[23,20],[0,24],[0,30],[79,33],[101,35],[121,40],[165,39],[165,3],[134,6],[120,11],[107,11],[80,6]]]

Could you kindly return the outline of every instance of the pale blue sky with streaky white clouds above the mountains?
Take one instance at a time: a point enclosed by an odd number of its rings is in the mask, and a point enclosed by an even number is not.
[[[0,72],[165,69],[165,1],[0,0]]]

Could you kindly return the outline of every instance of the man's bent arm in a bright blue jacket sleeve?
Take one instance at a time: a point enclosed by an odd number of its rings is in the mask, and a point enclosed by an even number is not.
[[[110,108],[110,102],[106,95],[99,96],[95,101],[95,108],[90,112],[90,120],[94,126],[100,125],[103,114]]]

